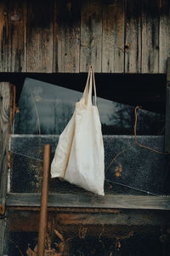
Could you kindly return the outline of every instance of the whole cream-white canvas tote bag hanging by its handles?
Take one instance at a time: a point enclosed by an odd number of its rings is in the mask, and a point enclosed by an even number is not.
[[[95,105],[92,104],[93,84]],[[104,144],[92,66],[82,99],[76,103],[71,120],[59,136],[51,176],[63,177],[69,183],[104,195]]]

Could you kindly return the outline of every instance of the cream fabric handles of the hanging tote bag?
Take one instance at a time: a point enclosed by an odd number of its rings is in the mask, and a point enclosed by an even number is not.
[[[92,105],[92,84],[94,84],[94,102],[95,106],[97,106],[97,96],[96,96],[96,86],[94,79],[94,67],[92,65],[89,66],[88,69],[88,79],[86,83],[86,87],[83,92],[83,98],[85,105]]]

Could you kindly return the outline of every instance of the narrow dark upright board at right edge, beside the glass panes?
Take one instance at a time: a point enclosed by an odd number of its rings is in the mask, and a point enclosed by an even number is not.
[[[170,58],[167,59],[167,99],[165,124],[165,151],[170,153]]]

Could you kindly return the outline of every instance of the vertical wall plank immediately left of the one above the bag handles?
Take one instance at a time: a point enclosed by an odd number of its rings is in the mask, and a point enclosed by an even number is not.
[[[54,2],[54,72],[79,73],[80,4]]]

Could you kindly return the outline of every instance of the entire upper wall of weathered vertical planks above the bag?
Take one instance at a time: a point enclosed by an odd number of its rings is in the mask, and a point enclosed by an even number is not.
[[[0,72],[166,73],[169,0],[0,2]]]

